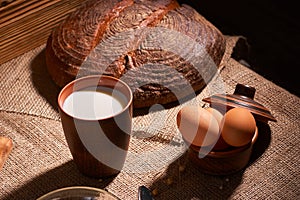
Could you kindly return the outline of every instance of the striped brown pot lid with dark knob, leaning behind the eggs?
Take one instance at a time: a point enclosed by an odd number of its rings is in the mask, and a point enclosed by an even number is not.
[[[254,100],[255,91],[254,87],[238,83],[233,94],[216,94],[204,98],[202,101],[210,103],[211,107],[226,110],[235,107],[246,108],[258,121],[268,122],[270,120],[276,122],[277,120],[272,116],[271,112]]]

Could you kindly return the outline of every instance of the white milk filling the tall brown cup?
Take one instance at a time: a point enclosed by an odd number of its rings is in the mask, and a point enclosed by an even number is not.
[[[113,95],[112,95],[113,94]],[[126,97],[117,90],[98,87],[75,91],[63,103],[63,109],[73,117],[95,120],[114,116],[123,110]]]

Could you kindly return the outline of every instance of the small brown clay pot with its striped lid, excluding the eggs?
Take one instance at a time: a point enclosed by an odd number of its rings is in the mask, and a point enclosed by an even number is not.
[[[248,109],[256,121],[267,123],[275,121],[270,111],[254,100],[255,88],[237,84],[233,94],[216,94],[203,101],[210,104],[210,107],[225,113],[236,107]],[[249,162],[252,148],[258,138],[258,128],[252,138],[251,143],[242,147],[229,147],[220,151],[209,151],[206,155],[201,155],[200,147],[189,146],[188,155],[202,172],[213,175],[228,175],[245,168]],[[261,134],[261,133],[260,133]]]

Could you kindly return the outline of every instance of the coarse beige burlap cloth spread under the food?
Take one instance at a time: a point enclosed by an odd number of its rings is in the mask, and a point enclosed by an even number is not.
[[[84,185],[137,199],[138,186],[146,185],[157,192],[155,199],[299,199],[300,99],[231,58],[236,40],[228,38],[222,69],[186,103],[203,105],[204,97],[232,93],[237,83],[256,88],[255,100],[277,122],[260,127],[244,170],[212,176],[190,163],[175,125],[176,106],[134,118],[129,154],[116,177],[81,175],[64,138],[56,104],[59,88],[46,71],[43,45],[0,66],[0,135],[14,141],[0,172],[0,198],[36,199],[54,189]]]

